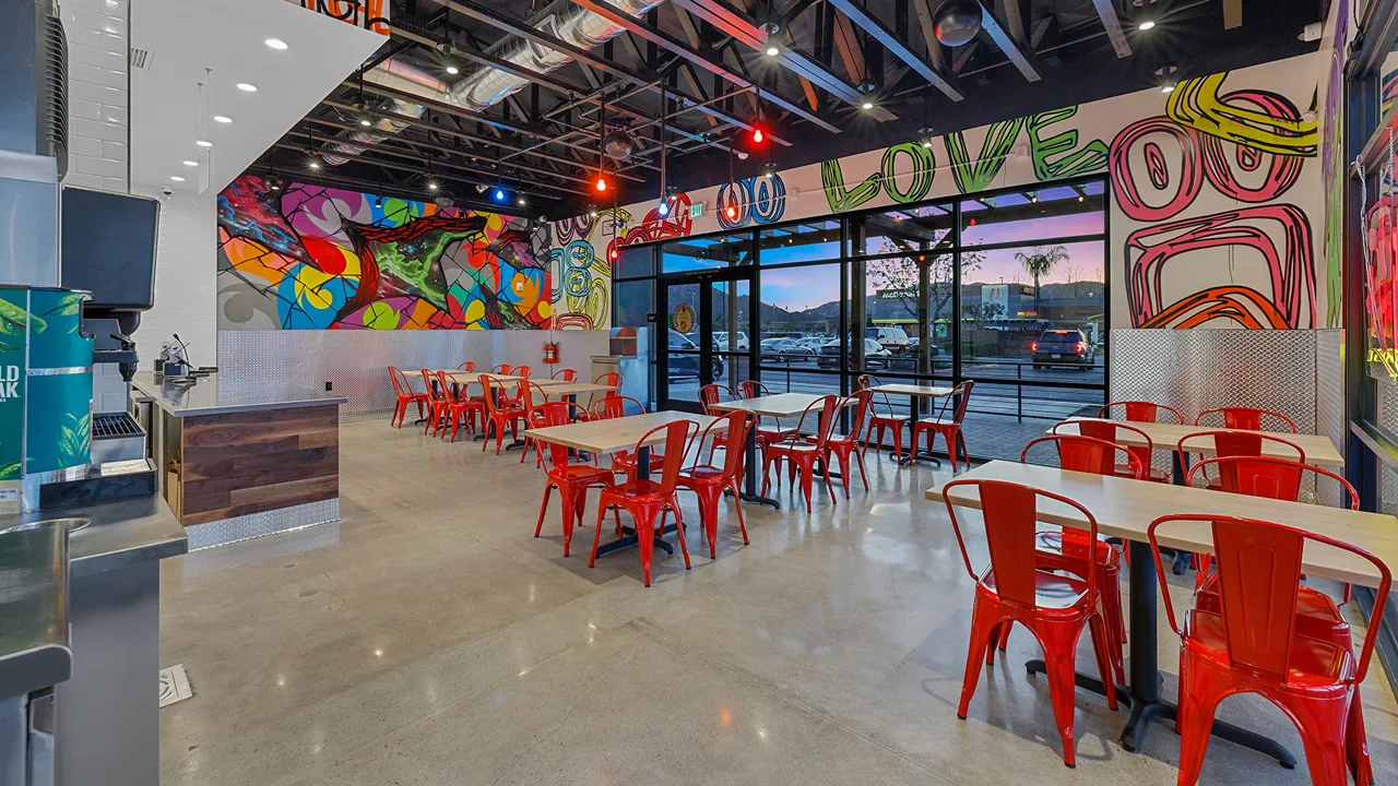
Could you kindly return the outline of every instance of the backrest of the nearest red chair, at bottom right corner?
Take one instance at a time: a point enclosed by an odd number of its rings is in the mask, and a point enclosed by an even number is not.
[[[1332,545],[1367,559],[1380,576],[1373,614],[1381,614],[1392,586],[1388,566],[1367,551],[1316,533],[1237,516],[1201,516],[1174,513],[1151,522],[1146,537],[1155,565],[1162,575],[1162,596],[1170,627],[1180,632],[1170,600],[1169,585],[1160,564],[1156,529],[1179,520],[1209,522],[1213,534],[1213,559],[1218,569],[1219,614],[1223,618],[1225,646],[1234,667],[1260,671],[1285,680],[1292,639],[1296,635],[1296,596],[1302,579],[1302,557],[1307,540]],[[1090,571],[1089,571],[1090,572]],[[1373,617],[1371,617],[1373,618]],[[1381,617],[1378,617],[1381,618]],[[1378,625],[1370,625],[1359,656],[1353,683],[1363,681],[1369,670]]]

